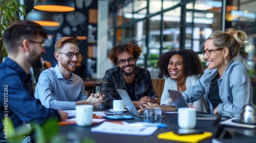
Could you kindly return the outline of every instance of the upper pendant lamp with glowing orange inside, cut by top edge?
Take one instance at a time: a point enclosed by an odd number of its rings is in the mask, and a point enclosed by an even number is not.
[[[73,0],[35,0],[34,9],[51,12],[70,12],[75,10]]]

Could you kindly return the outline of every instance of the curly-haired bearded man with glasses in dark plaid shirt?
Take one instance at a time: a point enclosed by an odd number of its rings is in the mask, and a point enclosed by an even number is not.
[[[150,99],[156,94],[150,72],[136,66],[141,52],[141,48],[131,42],[112,47],[109,58],[116,66],[106,70],[102,79],[100,91],[105,94],[101,104],[103,108],[113,108],[113,100],[122,100],[117,88],[129,93],[136,108],[156,100]]]

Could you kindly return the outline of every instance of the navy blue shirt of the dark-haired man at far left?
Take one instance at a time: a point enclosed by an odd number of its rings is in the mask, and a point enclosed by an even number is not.
[[[0,64],[0,117],[6,120],[10,117],[14,128],[25,123],[35,122],[44,123],[50,117],[60,115],[57,110],[46,109],[36,100],[33,95],[33,88],[30,74],[25,71],[13,60],[6,58]],[[4,139],[3,130],[7,124],[0,124],[0,139]]]

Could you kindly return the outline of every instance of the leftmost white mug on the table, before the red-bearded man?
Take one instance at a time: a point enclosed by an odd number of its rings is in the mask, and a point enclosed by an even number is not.
[[[93,123],[93,105],[76,105],[76,124],[90,126]]]

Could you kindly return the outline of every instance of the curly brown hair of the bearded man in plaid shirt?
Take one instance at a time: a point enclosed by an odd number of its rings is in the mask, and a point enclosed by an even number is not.
[[[116,45],[112,47],[109,53],[111,62],[117,65],[117,55],[122,54],[123,52],[133,54],[134,58],[138,60],[142,50],[137,44],[131,44],[131,42],[124,45]]]

